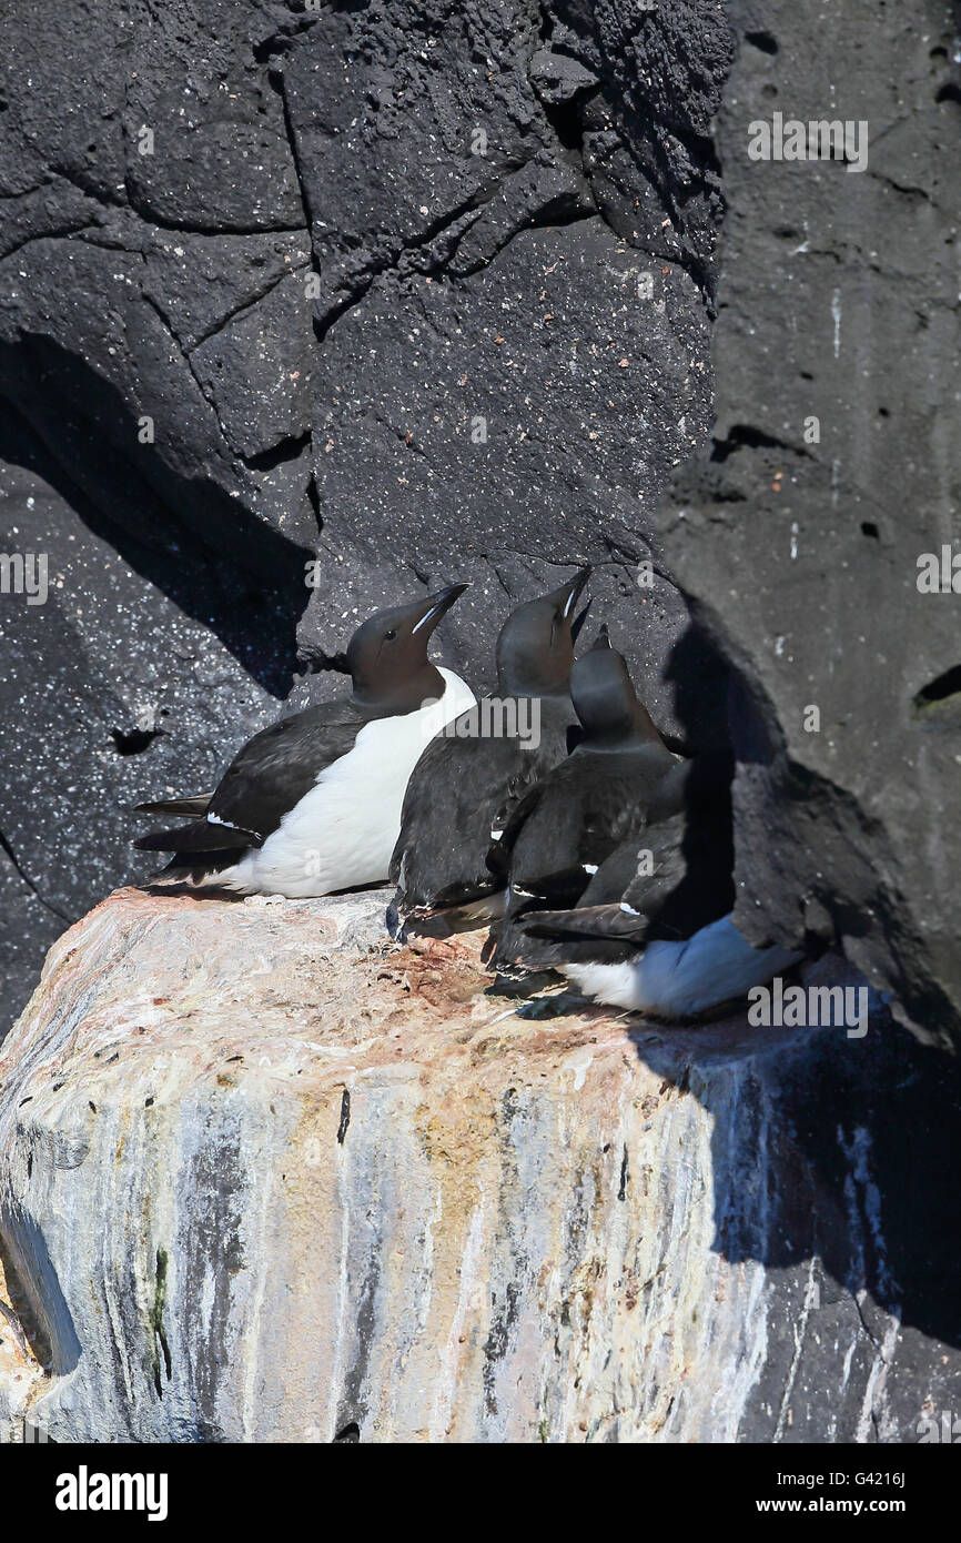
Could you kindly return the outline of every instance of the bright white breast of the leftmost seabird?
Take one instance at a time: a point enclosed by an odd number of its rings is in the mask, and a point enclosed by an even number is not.
[[[460,676],[440,673],[437,702],[366,724],[353,750],[321,772],[264,846],[219,883],[248,895],[307,896],[386,880],[413,767],[444,724],[475,702]]]

